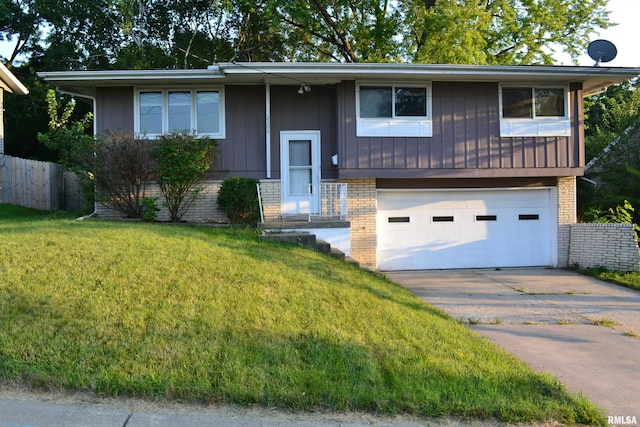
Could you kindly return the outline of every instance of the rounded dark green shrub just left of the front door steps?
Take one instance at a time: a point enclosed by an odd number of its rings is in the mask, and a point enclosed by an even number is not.
[[[254,178],[234,177],[222,181],[218,192],[218,209],[233,224],[256,225],[260,220],[258,192]]]

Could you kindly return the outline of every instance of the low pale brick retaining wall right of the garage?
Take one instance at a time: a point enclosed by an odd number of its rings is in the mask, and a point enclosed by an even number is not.
[[[572,224],[569,265],[640,271],[640,251],[632,224]]]

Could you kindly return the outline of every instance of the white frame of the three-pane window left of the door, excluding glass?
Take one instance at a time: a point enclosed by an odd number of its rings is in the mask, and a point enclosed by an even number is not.
[[[162,94],[162,133],[169,133],[169,92],[190,92],[191,93],[191,125],[195,124],[196,105],[198,92],[218,92],[220,97],[219,119],[220,129],[218,133],[197,133],[199,137],[209,137],[215,139],[224,139],[226,137],[225,129],[225,101],[224,86],[198,86],[198,87],[137,87],[133,95],[133,129],[136,134],[140,134],[140,93],[143,92],[160,92]],[[195,129],[191,129],[195,132]],[[158,138],[161,134],[146,134],[150,139]]]

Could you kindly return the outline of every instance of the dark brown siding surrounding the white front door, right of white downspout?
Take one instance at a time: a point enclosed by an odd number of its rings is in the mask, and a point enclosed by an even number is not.
[[[337,178],[337,168],[331,164],[331,156],[338,152],[336,90],[313,86],[300,95],[299,87],[271,86],[271,176],[280,178],[281,131],[319,130],[322,179]]]

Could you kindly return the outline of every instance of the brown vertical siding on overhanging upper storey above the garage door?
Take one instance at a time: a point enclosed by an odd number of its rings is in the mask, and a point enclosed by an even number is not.
[[[433,136],[357,137],[355,82],[339,86],[341,178],[582,175],[582,91],[571,85],[570,137],[500,137],[497,83],[432,83]]]

